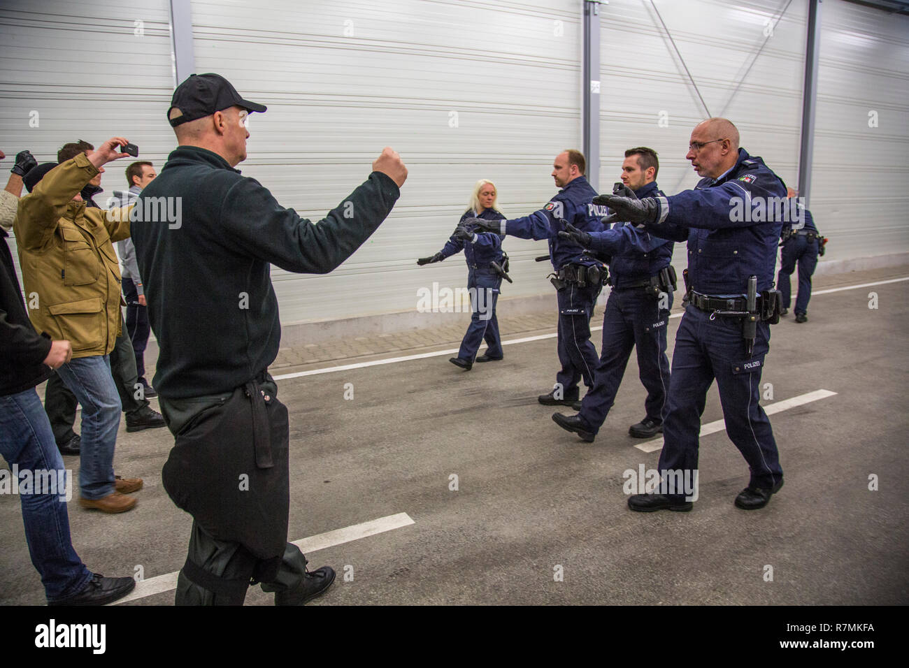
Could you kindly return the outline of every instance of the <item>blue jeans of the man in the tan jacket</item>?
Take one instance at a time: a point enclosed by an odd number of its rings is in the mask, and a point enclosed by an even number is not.
[[[114,492],[114,446],[120,427],[120,395],[110,360],[107,355],[79,357],[57,374],[82,404],[80,492],[85,499],[103,498]]]

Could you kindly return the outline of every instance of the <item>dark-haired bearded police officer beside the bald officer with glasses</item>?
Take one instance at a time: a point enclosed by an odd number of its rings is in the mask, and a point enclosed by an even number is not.
[[[659,168],[652,148],[629,148],[622,164],[622,184],[616,184],[616,194],[663,197],[655,181]],[[603,317],[603,347],[594,372],[594,388],[584,396],[579,414],[554,413],[553,420],[564,430],[593,442],[615,403],[628,357],[636,347],[641,383],[647,389],[646,414],[641,422],[629,427],[628,433],[635,438],[654,436],[663,431],[669,389],[666,327],[673,306],[674,280],[669,269],[674,244],[626,223],[617,223],[604,232],[572,229],[560,232],[559,236],[612,257],[609,264],[612,291]]]

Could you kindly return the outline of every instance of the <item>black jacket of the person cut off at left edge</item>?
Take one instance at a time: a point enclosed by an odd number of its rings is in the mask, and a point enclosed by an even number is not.
[[[51,374],[44,364],[51,340],[28,319],[7,236],[0,228],[0,396],[25,392]]]

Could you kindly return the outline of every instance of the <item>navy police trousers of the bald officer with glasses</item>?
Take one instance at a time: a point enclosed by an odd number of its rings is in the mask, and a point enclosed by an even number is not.
[[[715,378],[726,434],[751,469],[749,486],[767,489],[783,480],[774,432],[758,404],[769,341],[770,326],[758,323],[754,352],[747,355],[740,319],[712,319],[688,306],[675,334],[660,471],[697,469],[701,415]]]

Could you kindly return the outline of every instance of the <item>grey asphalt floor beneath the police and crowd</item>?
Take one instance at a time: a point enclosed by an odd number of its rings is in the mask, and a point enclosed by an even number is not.
[[[837,274],[814,289],[906,276],[909,266]],[[755,512],[733,505],[748,472],[724,432],[701,439],[691,513],[628,510],[623,472],[655,468],[659,456],[627,434],[644,416],[634,354],[593,444],[559,429],[553,408],[536,401],[554,383],[554,338],[506,345],[504,361],[466,373],[445,354],[279,381],[291,419],[289,539],[395,513],[414,520],[309,553],[311,567],[338,572],[314,604],[909,603],[907,289],[909,281],[814,294],[808,323],[790,314],[774,325],[762,379],[773,399],[762,403],[836,394],[771,416],[785,485]],[[554,333],[554,304],[514,319],[506,304],[505,340]],[[602,317],[599,306],[593,324]],[[670,353],[678,323],[670,321]],[[352,339],[335,346],[343,354],[282,349],[271,371],[431,353],[462,334],[389,336],[381,348]],[[599,332],[594,342],[599,350]],[[703,422],[720,419],[714,385]],[[121,424],[115,470],[145,479],[139,503],[119,515],[69,503],[73,543],[91,569],[131,575],[141,566],[151,578],[184,563],[190,518],[161,485],[172,444],[166,429],[126,434]],[[78,458],[65,464],[76,469]],[[0,495],[0,526],[0,603],[44,603],[15,496]],[[125,604],[173,602],[170,591]],[[251,588],[246,603],[270,604],[271,595]]]

